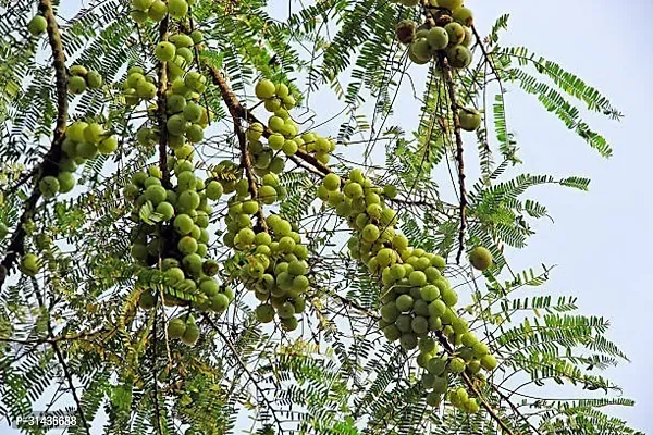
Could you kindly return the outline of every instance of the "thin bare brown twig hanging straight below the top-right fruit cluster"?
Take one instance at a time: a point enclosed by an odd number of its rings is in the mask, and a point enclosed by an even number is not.
[[[465,232],[467,229],[467,189],[465,187],[465,159],[463,158],[463,136],[460,134],[460,120],[458,116],[458,103],[456,102],[456,89],[454,77],[452,76],[452,67],[444,55],[440,57],[440,62],[444,72],[444,80],[447,87],[452,116],[454,119],[454,136],[456,137],[456,162],[458,163],[458,185],[460,200],[460,231],[458,233],[458,254],[456,256],[456,264],[460,264],[460,257],[465,250]]]

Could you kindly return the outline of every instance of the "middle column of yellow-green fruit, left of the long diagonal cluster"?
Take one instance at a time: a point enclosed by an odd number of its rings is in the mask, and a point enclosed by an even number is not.
[[[335,142],[310,132],[298,134],[288,113],[295,99],[285,84],[262,79],[256,84],[255,94],[272,114],[267,137],[259,123],[251,123],[245,132],[245,161],[250,164],[245,164],[246,176],[223,185],[225,192],[234,192],[227,201],[223,241],[243,256],[239,277],[261,302],[255,310],[257,319],[269,323],[276,316],[284,330],[294,331],[310,287],[308,248],[296,226],[279,214],[266,217],[263,207],[286,196],[278,175],[287,157],[301,149],[326,163]]]

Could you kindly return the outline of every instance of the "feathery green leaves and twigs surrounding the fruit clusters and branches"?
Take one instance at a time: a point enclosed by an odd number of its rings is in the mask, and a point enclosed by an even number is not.
[[[120,104],[120,85],[70,99],[72,119],[111,120],[121,145],[114,157],[85,167],[74,195],[57,203],[41,201],[34,228],[26,231],[29,249],[37,249],[37,235],[54,243],[41,275],[16,274],[0,293],[0,415],[16,422],[34,410],[74,411],[83,418],[71,433],[88,433],[95,421],[108,434],[180,433],[188,425],[199,433],[493,434],[498,433],[495,419],[515,434],[637,433],[606,411],[633,405],[602,376],[627,359],[606,337],[608,322],[579,314],[574,296],[547,296],[542,288],[553,266],[513,271],[503,257],[505,247],[526,247],[532,222],[549,217],[545,204],[528,198],[529,189],[589,186],[572,175],[504,176],[521,164],[506,121],[504,86],[532,94],[604,157],[612,147],[582,113],[618,120],[618,110],[560,65],[522,47],[503,47],[508,16],[496,21],[482,46],[475,47],[479,61],[455,77],[459,98],[486,115],[477,137],[465,137],[466,152],[478,153],[481,178],[468,181],[463,249],[486,246],[496,264],[478,276],[465,259],[456,264],[459,204],[443,200],[446,187],[432,179],[434,172],[455,173],[456,167],[445,85],[433,74],[412,82],[417,66],[410,66],[394,37],[396,22],[414,11],[380,1],[326,0],[294,5],[280,20],[270,15],[270,7],[197,2],[193,16],[205,32],[211,65],[227,75],[245,105],[254,104],[251,86],[259,77],[291,80],[307,105],[307,129],[337,138],[342,152],[331,164],[334,171],[365,166],[382,183],[397,185],[404,234],[416,247],[448,258],[449,279],[471,296],[468,318],[501,357],[482,390],[494,415],[470,417],[446,403],[436,412],[427,408],[417,368],[378,332],[378,286],[344,253],[345,226],[307,195],[319,177],[299,167],[284,174],[288,198],[280,212],[310,235],[311,254],[320,260],[312,269],[320,285],[311,289],[299,332],[262,327],[252,318],[250,297],[236,291],[227,313],[204,321],[196,347],[167,344],[156,325],[171,314],[135,310],[128,222],[116,192],[127,176],[156,161],[156,150],[135,144],[139,117]],[[10,228],[19,224],[33,188],[25,175],[44,159],[57,117],[49,49],[25,30],[35,8],[17,0],[0,10],[0,221]],[[124,1],[94,1],[70,22],[60,21],[67,63],[102,72],[108,84],[122,82],[126,64],[143,63],[144,45],[156,38],[156,28],[136,32],[128,10]],[[325,86],[342,110],[333,119],[311,99]],[[415,132],[394,125],[399,92],[412,92],[421,105]],[[204,162],[237,161],[220,90],[210,86],[206,101],[215,120],[202,144]],[[224,211],[218,208],[212,216],[218,232]],[[8,243],[0,243],[3,254]],[[211,251],[226,259],[229,250],[215,243]],[[168,358],[175,370],[167,369]],[[545,384],[578,387],[575,399],[540,397],[537,387]]]

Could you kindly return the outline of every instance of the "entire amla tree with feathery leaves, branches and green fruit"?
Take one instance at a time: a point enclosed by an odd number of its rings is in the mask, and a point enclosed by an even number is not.
[[[619,113],[498,46],[507,16],[482,38],[461,0],[328,0],[283,21],[263,1],[106,0],[70,21],[14,3],[0,412],[22,431],[42,433],[27,418],[45,410],[71,433],[247,417],[260,433],[633,433],[599,409],[631,405],[596,374],[625,358],[606,321],[520,298],[550,269],[503,256],[546,215],[529,187],[589,183],[502,179],[520,163],[504,84],[605,156],[569,100]],[[393,108],[408,74],[423,77],[411,133]],[[432,182],[447,164],[455,202]],[[549,381],[603,393],[531,399]]]

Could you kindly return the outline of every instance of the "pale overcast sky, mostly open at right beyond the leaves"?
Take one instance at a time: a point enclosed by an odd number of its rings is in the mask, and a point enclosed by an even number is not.
[[[61,3],[63,15],[69,16],[81,2]],[[482,34],[498,15],[509,12],[509,32],[503,45],[523,45],[557,61],[597,87],[626,115],[621,123],[588,119],[614,146],[614,157],[606,160],[546,113],[534,97],[519,91],[509,95],[508,126],[516,134],[526,162],[521,170],[592,178],[589,194],[558,187],[538,189],[535,197],[547,206],[555,224],[538,225],[539,234],[529,247],[510,256],[509,261],[517,270],[558,264],[546,290],[576,295],[584,314],[611,319],[609,337],[632,363],[620,365],[609,375],[624,387],[625,396],[638,401],[636,408],[621,409],[618,414],[653,433],[653,385],[648,374],[653,356],[649,312],[653,307],[649,287],[653,274],[653,206],[648,166],[653,161],[648,135],[653,48],[646,44],[653,41],[648,23],[653,16],[653,2],[630,0],[624,2],[628,8],[590,0],[468,3]],[[406,113],[411,112],[408,109]],[[328,119],[326,114],[321,117]],[[405,121],[409,125],[415,122]],[[0,432],[4,431],[0,426]]]

